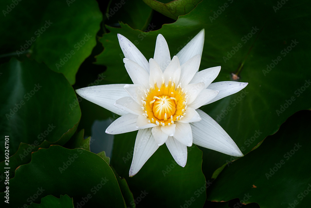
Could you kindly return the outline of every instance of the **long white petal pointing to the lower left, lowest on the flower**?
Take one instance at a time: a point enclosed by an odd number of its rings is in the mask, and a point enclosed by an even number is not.
[[[158,148],[150,128],[138,130],[129,176],[134,176]]]

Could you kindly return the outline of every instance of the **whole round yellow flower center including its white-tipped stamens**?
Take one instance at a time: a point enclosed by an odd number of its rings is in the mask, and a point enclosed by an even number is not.
[[[169,81],[168,85],[165,85],[163,81],[160,88],[155,84],[145,92],[145,97],[142,97],[142,108],[145,112],[143,115],[149,119],[149,123],[158,126],[170,125],[186,114],[187,97],[180,85],[175,88],[174,82]]]

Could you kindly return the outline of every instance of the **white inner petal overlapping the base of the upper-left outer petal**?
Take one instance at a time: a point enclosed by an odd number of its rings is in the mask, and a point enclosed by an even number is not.
[[[135,61],[124,58],[123,62],[133,84],[142,85],[149,89],[149,73]]]

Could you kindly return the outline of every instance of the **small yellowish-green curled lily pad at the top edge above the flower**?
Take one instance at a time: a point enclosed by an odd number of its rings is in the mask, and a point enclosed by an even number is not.
[[[189,13],[201,1],[202,0],[175,0],[168,3],[161,3],[156,0],[143,0],[149,7],[174,20],[177,20],[179,15]]]

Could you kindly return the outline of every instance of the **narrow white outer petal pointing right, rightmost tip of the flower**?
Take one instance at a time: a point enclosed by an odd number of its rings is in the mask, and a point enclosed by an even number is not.
[[[233,82],[233,81],[224,81],[224,82],[215,82],[210,84],[207,89],[213,89],[218,90],[219,94],[217,96],[207,102],[207,104],[210,104],[212,102],[215,102],[221,98],[227,97],[231,94],[239,92],[241,89],[246,87],[248,85],[247,82]]]

